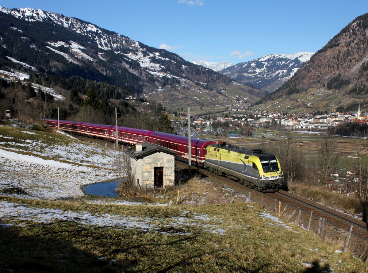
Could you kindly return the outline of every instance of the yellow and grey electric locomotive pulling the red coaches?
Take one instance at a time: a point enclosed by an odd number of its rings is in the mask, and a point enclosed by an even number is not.
[[[247,149],[227,143],[206,147],[204,167],[259,191],[286,188],[286,181],[275,155],[262,149]]]

